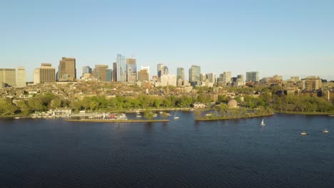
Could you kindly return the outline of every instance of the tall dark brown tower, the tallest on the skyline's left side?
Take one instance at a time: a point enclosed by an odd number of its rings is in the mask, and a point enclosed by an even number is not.
[[[61,61],[59,61],[58,77],[60,81],[76,80],[76,58],[61,58]]]

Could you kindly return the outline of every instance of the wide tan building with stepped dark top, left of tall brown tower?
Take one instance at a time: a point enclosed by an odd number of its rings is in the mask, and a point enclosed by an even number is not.
[[[52,67],[51,63],[41,63],[40,68],[35,68],[34,84],[55,82],[55,81],[56,81],[56,68]]]

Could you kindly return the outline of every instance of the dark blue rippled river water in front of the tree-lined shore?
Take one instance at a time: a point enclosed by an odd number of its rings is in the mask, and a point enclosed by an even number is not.
[[[0,120],[0,187],[334,187],[334,117],[178,116]]]

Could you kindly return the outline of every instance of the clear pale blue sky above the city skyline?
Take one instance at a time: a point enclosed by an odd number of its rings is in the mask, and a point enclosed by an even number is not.
[[[334,1],[2,1],[0,68],[24,66],[28,80],[41,63],[61,57],[82,66],[116,54],[138,67],[201,66],[202,73],[259,71],[334,79]]]

